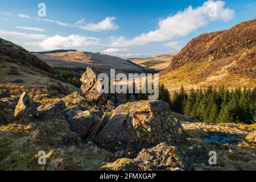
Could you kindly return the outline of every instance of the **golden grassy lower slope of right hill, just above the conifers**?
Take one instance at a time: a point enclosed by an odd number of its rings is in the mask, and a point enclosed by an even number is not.
[[[218,67],[216,64],[214,61],[188,63],[168,73],[160,73],[160,82],[170,92],[179,90],[181,85],[185,90],[204,88],[209,85],[217,88],[225,85],[229,89],[237,86],[253,88],[256,85],[255,79],[230,73],[229,67]]]

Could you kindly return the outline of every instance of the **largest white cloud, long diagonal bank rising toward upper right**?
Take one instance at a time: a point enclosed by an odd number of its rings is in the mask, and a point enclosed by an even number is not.
[[[143,33],[134,39],[125,37],[112,37],[110,47],[140,46],[150,42],[163,42],[179,38],[190,34],[208,23],[222,20],[224,22],[234,17],[234,11],[224,8],[224,1],[205,2],[202,6],[195,9],[189,6],[184,11],[179,11],[174,16],[168,16],[166,19],[159,20],[158,28],[154,31]]]

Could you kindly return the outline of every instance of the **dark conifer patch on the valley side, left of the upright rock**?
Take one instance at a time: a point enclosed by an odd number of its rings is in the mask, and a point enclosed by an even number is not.
[[[77,88],[81,87],[80,77],[81,74],[73,71],[68,68],[53,68],[55,73],[59,75],[61,78],[64,78],[69,84],[76,86]]]

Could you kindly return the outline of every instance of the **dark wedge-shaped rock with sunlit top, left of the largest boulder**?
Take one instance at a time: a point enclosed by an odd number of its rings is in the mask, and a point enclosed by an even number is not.
[[[89,135],[93,125],[97,125],[101,120],[97,111],[81,111],[79,109],[69,109],[65,112],[65,118],[67,118],[70,130],[77,133],[82,139]]]

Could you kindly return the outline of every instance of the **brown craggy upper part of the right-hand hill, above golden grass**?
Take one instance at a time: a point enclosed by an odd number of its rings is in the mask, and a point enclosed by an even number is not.
[[[202,34],[192,39],[172,58],[164,73],[188,63],[221,60],[220,67],[229,64],[228,72],[255,78],[255,26],[256,19],[253,19],[239,23],[229,30]]]

